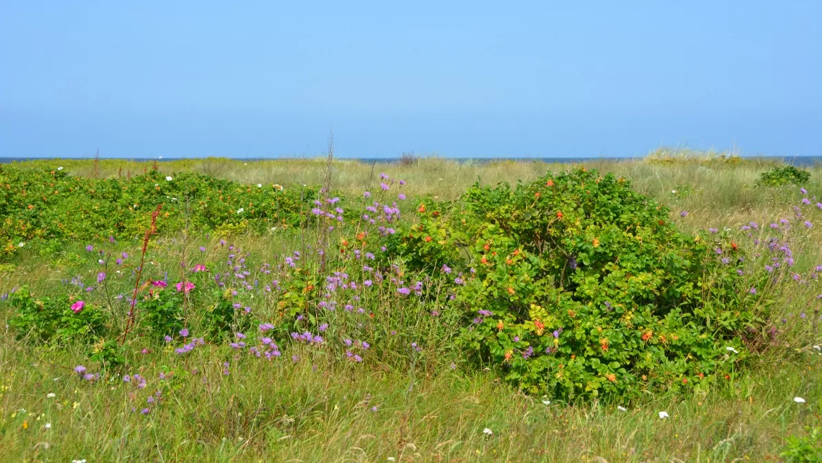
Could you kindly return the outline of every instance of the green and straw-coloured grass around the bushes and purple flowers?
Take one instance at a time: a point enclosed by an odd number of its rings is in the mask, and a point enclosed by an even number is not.
[[[118,160],[100,160],[96,167],[87,160],[30,164],[57,163],[81,175],[94,175],[96,169],[99,176],[118,171],[125,176],[129,170],[150,169]],[[797,188],[755,188],[755,178],[771,166],[766,161],[657,153],[648,160],[597,160],[585,166],[630,178],[635,189],[659,198],[673,214],[688,211],[680,220],[686,229],[766,223],[790,214],[801,197]],[[385,171],[409,182],[409,196],[455,199],[477,180],[527,181],[546,169],[567,167],[336,161],[332,188],[360,195]],[[325,168],[324,160],[159,164],[169,174],[192,169],[285,188],[322,183]],[[810,170],[807,188],[822,191],[822,169]],[[822,232],[813,229],[808,236],[797,249],[804,265],[812,266],[822,262]],[[208,243],[209,251],[198,258],[217,262],[221,254],[213,248],[214,239],[192,233],[185,252],[191,256]],[[281,258],[299,239],[298,234],[244,234],[232,243],[259,264]],[[83,245],[75,243],[46,262],[24,253],[14,266],[0,267],[0,293],[26,284],[48,294],[62,287],[63,279],[93,278],[99,266],[80,258]],[[133,254],[137,245],[118,247]],[[175,272],[182,250],[182,236],[159,237],[146,261],[155,273]],[[112,285],[127,287],[127,275],[111,278]],[[0,321],[10,315],[6,307],[0,305]],[[409,311],[404,317],[414,325],[408,329],[415,336],[427,332],[412,308],[388,309]],[[786,317],[798,310],[785,301]],[[820,342],[819,331],[806,335],[796,338],[803,342],[763,355],[750,371],[719,378],[701,393],[649,395],[630,404],[544,404],[499,382],[491,371],[461,363],[459,355],[439,349],[436,342],[418,356],[399,353],[409,362],[376,359],[367,368],[353,368],[324,350],[289,350],[289,359],[276,362],[240,357],[211,344],[183,359],[170,345],[144,354],[150,344],[138,338],[127,351],[128,372],[146,378],[145,389],[138,389],[118,377],[81,381],[72,371],[88,363],[80,347],[32,345],[15,340],[6,328],[0,342],[0,461],[778,461],[788,436],[804,436],[806,426],[822,422],[822,356],[810,345]],[[292,354],[299,359],[290,359]],[[159,378],[161,372],[165,379]],[[140,414],[155,391],[160,395],[150,413]],[[795,396],[806,404],[794,402]],[[617,409],[623,405],[626,411]],[[660,411],[670,417],[660,419]],[[47,423],[50,428],[44,428]],[[485,428],[492,434],[483,433]]]

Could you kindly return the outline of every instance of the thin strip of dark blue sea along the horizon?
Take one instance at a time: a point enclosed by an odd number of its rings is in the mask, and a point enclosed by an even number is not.
[[[242,160],[243,162],[255,162],[255,161],[264,161],[264,160],[306,160],[306,159],[321,159],[322,156],[318,155],[315,158],[230,158],[233,160]],[[15,157],[0,157],[0,164],[11,164],[12,162],[23,162],[27,160],[49,160],[49,159],[62,159],[62,160],[92,160],[94,158],[15,158]],[[134,162],[169,162],[174,160],[205,160],[207,158],[100,158],[105,160],[123,160],[123,161],[134,161]],[[418,159],[425,159],[425,158],[418,158]],[[505,161],[514,161],[514,162],[543,162],[546,164],[576,164],[580,162],[592,162],[592,161],[599,161],[599,162],[620,162],[620,161],[629,161],[629,160],[642,160],[644,157],[586,157],[586,158],[437,158],[437,159],[446,159],[446,160],[453,160],[459,163],[490,163],[490,162],[505,162]],[[742,159],[744,160],[752,160],[752,161],[762,161],[762,162],[774,162],[774,161],[782,161],[784,164],[791,164],[796,166],[812,166],[816,164],[822,164],[822,156],[792,156],[792,157],[745,157],[743,156]],[[390,164],[390,163],[398,163],[400,158],[337,158],[337,160],[352,160],[352,161],[359,161],[365,164]]]

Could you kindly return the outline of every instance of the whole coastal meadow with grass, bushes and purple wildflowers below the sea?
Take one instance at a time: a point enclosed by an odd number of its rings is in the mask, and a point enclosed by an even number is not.
[[[0,166],[2,461],[822,461],[822,170]]]

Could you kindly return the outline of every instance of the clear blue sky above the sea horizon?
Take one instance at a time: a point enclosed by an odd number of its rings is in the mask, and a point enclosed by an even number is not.
[[[820,50],[816,0],[0,0],[0,156],[822,155]]]

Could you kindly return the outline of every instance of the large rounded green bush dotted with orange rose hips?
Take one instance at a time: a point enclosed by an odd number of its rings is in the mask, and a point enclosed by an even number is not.
[[[767,310],[736,243],[681,233],[623,178],[477,184],[443,207],[421,206],[395,248],[429,267],[462,249],[466,353],[533,393],[702,387],[744,359],[740,335]]]

